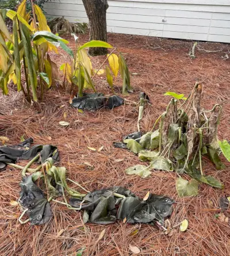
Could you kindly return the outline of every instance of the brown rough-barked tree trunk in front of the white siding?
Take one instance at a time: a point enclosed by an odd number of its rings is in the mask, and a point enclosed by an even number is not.
[[[109,5],[107,0],[82,0],[89,18],[90,41],[101,40],[107,42],[106,10]],[[92,56],[107,54],[107,48],[89,48]]]

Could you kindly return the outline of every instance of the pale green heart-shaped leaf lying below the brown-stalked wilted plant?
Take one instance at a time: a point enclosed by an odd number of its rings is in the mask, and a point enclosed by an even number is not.
[[[196,196],[198,195],[198,182],[195,179],[188,182],[180,177],[176,181],[176,189],[179,197]]]

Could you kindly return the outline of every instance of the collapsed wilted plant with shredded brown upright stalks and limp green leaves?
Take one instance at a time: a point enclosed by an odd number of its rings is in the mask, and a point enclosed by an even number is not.
[[[202,156],[209,158],[217,170],[225,168],[219,157],[221,151],[230,159],[230,145],[217,138],[222,107],[219,104],[212,110],[201,107],[202,85],[199,83],[187,98],[173,92],[166,95],[174,98],[156,120],[153,129],[136,140],[124,140],[128,149],[138,153],[141,161],[150,161],[150,165],[135,165],[126,172],[144,177],[150,175],[152,169],[175,170],[179,176],[185,172],[193,179],[190,182],[182,178],[177,180],[179,195],[196,195],[197,182],[223,189],[220,181],[205,175],[202,170]],[[185,101],[180,104],[179,100]],[[159,129],[154,130],[157,123]]]

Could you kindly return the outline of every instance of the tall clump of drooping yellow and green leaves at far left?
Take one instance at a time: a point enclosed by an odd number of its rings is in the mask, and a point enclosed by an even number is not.
[[[66,46],[67,40],[50,32],[44,13],[39,6],[33,5],[33,2],[32,12],[33,18],[30,18],[30,12],[26,13],[26,0],[18,6],[17,12],[0,10],[0,88],[6,95],[7,84],[12,80],[28,101],[31,100],[31,88],[33,100],[37,101],[37,76],[40,77],[41,99],[44,89],[48,89],[53,82],[58,81],[57,66],[51,61],[48,52],[57,53],[57,47],[60,46],[72,57],[74,55]],[[12,35],[4,23],[6,16],[13,20]],[[21,82],[22,67],[26,88]]]

